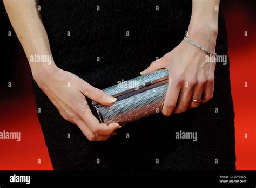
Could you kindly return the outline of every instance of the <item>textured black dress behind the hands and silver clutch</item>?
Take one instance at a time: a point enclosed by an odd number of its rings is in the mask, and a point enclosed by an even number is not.
[[[100,89],[138,76],[156,57],[176,47],[188,29],[192,10],[191,1],[180,0],[41,0],[39,5],[57,66]],[[220,13],[216,52],[227,55],[227,48]],[[159,113],[127,124],[105,142],[88,141],[77,126],[60,116],[35,81],[33,87],[56,170],[235,169],[229,61],[217,63],[211,101],[181,114]],[[196,131],[197,141],[176,140],[180,130]]]

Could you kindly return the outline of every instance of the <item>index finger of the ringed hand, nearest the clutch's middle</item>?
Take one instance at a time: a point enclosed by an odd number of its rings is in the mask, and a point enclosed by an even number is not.
[[[169,87],[167,89],[164,107],[162,110],[162,113],[164,115],[170,116],[172,114],[173,109],[176,107],[180,89],[180,85],[178,85],[177,83],[172,83],[171,80],[169,81]]]

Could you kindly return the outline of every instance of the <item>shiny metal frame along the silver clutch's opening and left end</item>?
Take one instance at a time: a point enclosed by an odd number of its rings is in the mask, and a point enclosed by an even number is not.
[[[120,92],[120,93],[114,94],[112,96],[114,98],[117,98],[117,101],[119,101],[119,100],[122,100],[125,98],[129,98],[132,95],[136,95],[138,93],[144,92],[145,90],[163,85],[164,83],[168,83],[168,81],[169,81],[169,76],[164,76],[163,78],[153,80],[150,82],[146,82],[143,85],[125,90],[124,92]],[[103,120],[102,114],[100,113],[100,108],[99,108],[100,106],[103,106],[103,105],[100,105],[99,103],[97,103],[91,99],[89,99],[88,103],[89,103],[90,108],[93,109],[92,110],[93,115],[98,117],[98,120],[100,121],[100,123],[104,123],[104,120]]]

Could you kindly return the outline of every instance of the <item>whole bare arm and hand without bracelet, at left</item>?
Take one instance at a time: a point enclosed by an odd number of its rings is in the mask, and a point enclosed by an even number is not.
[[[117,123],[99,123],[92,115],[85,96],[103,105],[111,105],[116,99],[78,76],[57,68],[37,5],[37,0],[4,0],[11,24],[29,60],[33,78],[64,119],[77,124],[90,141],[107,140],[120,126]],[[50,56],[52,63],[33,63],[30,56],[34,54]]]

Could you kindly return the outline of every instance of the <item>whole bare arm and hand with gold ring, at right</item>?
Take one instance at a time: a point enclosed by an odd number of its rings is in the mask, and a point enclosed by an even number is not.
[[[187,38],[215,52],[218,33],[219,0],[192,1],[192,14]],[[214,89],[215,62],[206,62],[203,50],[186,41],[152,64],[141,74],[160,68],[169,70],[169,87],[162,113],[171,115],[198,107],[194,100],[210,100]]]

